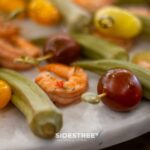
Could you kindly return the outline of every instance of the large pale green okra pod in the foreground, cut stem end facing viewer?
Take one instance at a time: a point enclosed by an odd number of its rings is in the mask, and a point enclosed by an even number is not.
[[[12,103],[24,114],[35,135],[52,138],[61,129],[60,111],[38,85],[8,69],[0,69],[0,78],[10,84]]]

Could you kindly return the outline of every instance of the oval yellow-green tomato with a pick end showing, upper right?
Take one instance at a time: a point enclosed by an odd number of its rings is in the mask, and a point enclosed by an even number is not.
[[[136,16],[115,6],[98,10],[94,23],[101,33],[121,38],[133,38],[142,29],[142,23]]]

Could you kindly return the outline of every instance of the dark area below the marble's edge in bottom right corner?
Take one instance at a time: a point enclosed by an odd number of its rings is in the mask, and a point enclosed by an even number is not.
[[[150,150],[150,133],[103,150]]]

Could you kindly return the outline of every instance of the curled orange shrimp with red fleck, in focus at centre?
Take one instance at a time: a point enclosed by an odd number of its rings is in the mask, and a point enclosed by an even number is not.
[[[80,100],[88,88],[88,77],[79,67],[62,64],[49,64],[40,68],[35,82],[48,94],[58,106],[65,106]],[[56,77],[51,73],[59,76]]]

